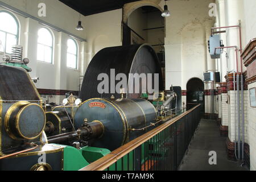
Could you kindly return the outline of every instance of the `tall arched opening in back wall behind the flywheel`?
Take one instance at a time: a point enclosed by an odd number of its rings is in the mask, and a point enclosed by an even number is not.
[[[147,43],[154,48],[158,55],[165,83],[165,50],[164,38],[165,19],[161,16],[162,11],[155,6],[139,6],[133,11],[129,11],[127,19],[122,23],[123,46],[132,44]]]

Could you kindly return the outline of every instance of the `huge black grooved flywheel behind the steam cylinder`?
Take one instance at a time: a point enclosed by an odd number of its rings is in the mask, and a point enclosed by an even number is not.
[[[98,76],[100,76],[100,74],[102,75],[102,73],[105,73],[104,75],[108,76],[108,79],[106,79],[107,77],[101,77],[102,80],[98,80]],[[158,73],[159,77],[159,90],[164,90],[160,63],[151,46],[143,44],[108,47],[99,51],[88,66],[80,92],[82,101],[86,101],[90,98],[110,98],[111,96],[121,98],[121,94],[114,89],[118,82],[122,80],[121,78],[120,80],[115,79],[118,73],[123,73],[128,78],[127,90],[125,90],[125,92],[129,92],[129,90],[133,91],[124,94],[124,98],[139,98],[141,93],[145,91],[142,90],[142,88],[153,89],[155,85],[154,74],[156,73]],[[134,75],[135,73],[138,73],[138,75],[145,73],[147,79],[150,78],[150,74],[152,74],[152,77],[148,81],[139,79],[139,85],[135,85],[135,78],[130,75]],[[104,86],[99,86],[99,84],[102,85],[102,83],[104,83]],[[135,86],[137,86],[137,88],[139,86],[139,93],[135,93]],[[98,88],[102,89],[98,90]],[[102,90],[108,90],[108,92],[102,93]],[[101,93],[98,91],[101,91]]]

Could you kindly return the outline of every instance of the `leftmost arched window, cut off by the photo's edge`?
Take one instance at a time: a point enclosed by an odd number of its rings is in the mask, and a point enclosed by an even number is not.
[[[7,11],[0,11],[0,52],[11,53],[11,47],[18,44],[19,23],[15,16]]]

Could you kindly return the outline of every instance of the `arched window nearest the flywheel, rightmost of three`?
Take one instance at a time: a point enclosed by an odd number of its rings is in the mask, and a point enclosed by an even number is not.
[[[77,43],[68,39],[67,67],[77,69]]]

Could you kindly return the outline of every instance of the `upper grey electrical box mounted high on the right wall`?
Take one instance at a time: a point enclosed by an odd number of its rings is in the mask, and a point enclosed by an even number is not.
[[[209,52],[210,52],[210,57],[212,59],[220,59],[221,55],[221,49],[216,49],[216,47],[221,47],[221,40],[220,40],[220,35],[212,35],[210,36],[210,39],[208,41],[208,46],[209,46]]]

